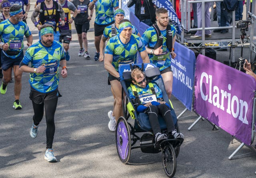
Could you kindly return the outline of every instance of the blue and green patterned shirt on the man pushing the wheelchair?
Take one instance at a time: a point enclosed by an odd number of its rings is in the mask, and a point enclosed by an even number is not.
[[[122,64],[136,63],[137,51],[142,52],[146,50],[140,37],[132,34],[130,41],[123,44],[120,40],[120,34],[110,38],[105,49],[105,54],[112,54],[112,65],[118,71],[118,67]]]

